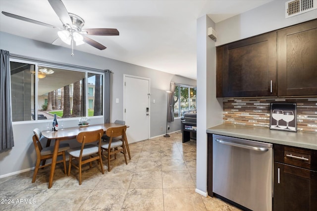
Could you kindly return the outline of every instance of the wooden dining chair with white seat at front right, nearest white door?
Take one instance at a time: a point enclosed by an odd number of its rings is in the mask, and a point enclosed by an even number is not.
[[[101,144],[102,150],[106,150],[107,155],[102,154],[108,160],[108,171],[110,171],[110,156],[114,155],[114,159],[116,159],[116,154],[119,152],[123,152],[125,164],[127,165],[127,157],[125,153],[125,131],[127,127],[109,127],[106,130],[106,136],[109,137],[108,140],[103,141]]]

